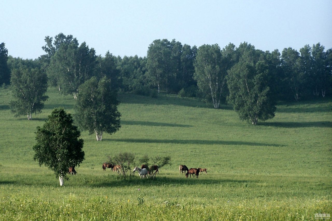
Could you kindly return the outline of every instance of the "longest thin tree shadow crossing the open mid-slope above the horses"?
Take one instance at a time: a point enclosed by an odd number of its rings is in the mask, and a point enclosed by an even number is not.
[[[245,145],[245,146],[273,146],[282,147],[283,144],[258,143],[248,141],[227,141],[227,140],[171,140],[171,139],[105,139],[117,142],[130,143],[169,143],[169,144],[201,144],[201,145]]]

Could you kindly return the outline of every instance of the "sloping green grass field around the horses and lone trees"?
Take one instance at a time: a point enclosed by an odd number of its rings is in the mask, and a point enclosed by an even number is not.
[[[82,132],[85,160],[64,186],[33,160],[35,131],[56,107],[74,99],[55,88],[41,114],[14,118],[0,88],[0,220],[315,220],[332,214],[332,99],[280,103],[253,126],[230,106],[195,99],[119,95],[121,129]],[[169,155],[155,180],[122,180],[107,156]],[[140,162],[138,162],[140,163]],[[179,165],[207,168],[198,179]]]

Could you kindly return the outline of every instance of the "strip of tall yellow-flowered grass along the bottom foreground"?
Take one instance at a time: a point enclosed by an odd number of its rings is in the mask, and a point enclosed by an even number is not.
[[[144,203],[144,198],[113,202],[105,197],[80,200],[69,195],[63,202],[23,195],[3,197],[1,220],[314,220],[315,213],[331,209],[331,201],[257,200],[220,205]]]

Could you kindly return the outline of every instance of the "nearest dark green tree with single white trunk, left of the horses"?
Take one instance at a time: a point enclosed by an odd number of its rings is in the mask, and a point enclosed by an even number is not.
[[[71,115],[62,108],[54,109],[44,125],[37,127],[34,160],[51,169],[59,177],[60,186],[63,179],[68,179],[68,168],[77,167],[84,160],[83,139],[79,137]]]

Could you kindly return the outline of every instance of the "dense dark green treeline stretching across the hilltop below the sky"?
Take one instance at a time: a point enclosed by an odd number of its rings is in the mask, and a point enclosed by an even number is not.
[[[214,108],[232,104],[241,119],[253,124],[257,118],[273,117],[277,100],[298,101],[332,92],[332,49],[325,50],[320,43],[304,45],[299,52],[291,47],[270,52],[247,42],[197,48],[175,39],[156,39],[145,57],[116,57],[109,51],[96,55],[86,42],[79,44],[62,33],[54,39],[45,37],[45,43],[45,54],[35,60],[8,56],[2,43],[0,83],[9,84],[10,73],[22,66],[38,68],[46,73],[48,85],[77,99],[80,85],[92,77],[98,81],[106,77],[113,91],[151,97],[164,91],[212,102]]]

